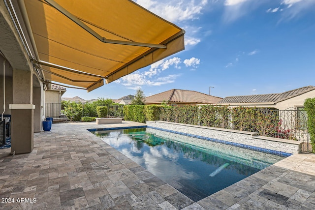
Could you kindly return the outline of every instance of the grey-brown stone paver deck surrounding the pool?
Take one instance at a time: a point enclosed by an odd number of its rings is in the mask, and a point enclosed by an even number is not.
[[[315,209],[314,154],[294,154],[194,203],[86,130],[136,125],[144,124],[53,124],[34,134],[31,153],[1,149],[0,209]]]

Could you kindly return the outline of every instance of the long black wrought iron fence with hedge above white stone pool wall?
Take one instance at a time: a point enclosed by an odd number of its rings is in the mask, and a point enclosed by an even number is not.
[[[222,109],[220,106],[163,108],[161,120],[251,131],[260,136],[302,141],[302,150],[312,151],[307,113],[301,108],[286,110],[248,107]]]

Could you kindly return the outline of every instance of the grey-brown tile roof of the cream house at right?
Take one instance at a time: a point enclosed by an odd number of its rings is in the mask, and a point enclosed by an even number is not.
[[[295,90],[289,90],[282,93],[262,94],[262,95],[241,95],[241,96],[229,96],[219,101],[220,104],[232,104],[232,103],[263,103],[271,102],[278,103],[286,99],[301,95],[303,93],[315,90],[314,86],[306,86]]]

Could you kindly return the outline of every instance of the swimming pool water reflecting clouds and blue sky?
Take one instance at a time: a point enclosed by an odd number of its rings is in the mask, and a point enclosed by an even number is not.
[[[284,158],[152,128],[93,133],[195,202]]]

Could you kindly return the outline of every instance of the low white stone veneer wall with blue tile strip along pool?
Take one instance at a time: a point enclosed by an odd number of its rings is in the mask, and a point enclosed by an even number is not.
[[[281,156],[300,153],[302,142],[258,136],[257,133],[166,121],[147,121],[150,128],[220,142]]]

